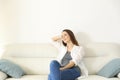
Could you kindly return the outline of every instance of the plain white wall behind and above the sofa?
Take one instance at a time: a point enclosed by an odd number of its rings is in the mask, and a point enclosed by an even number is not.
[[[6,1],[7,14],[0,15],[9,17],[2,28],[9,43],[49,42],[65,28],[92,41],[120,43],[120,0]]]

